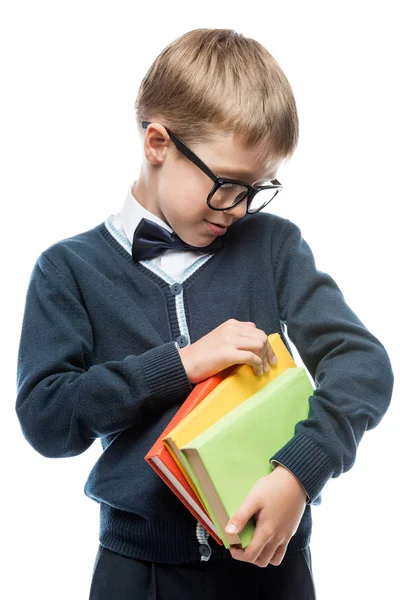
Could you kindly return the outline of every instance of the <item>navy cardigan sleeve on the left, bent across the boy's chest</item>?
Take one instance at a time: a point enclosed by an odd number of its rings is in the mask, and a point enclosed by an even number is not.
[[[93,332],[79,293],[42,253],[25,299],[16,412],[28,442],[48,457],[74,456],[136,425],[192,390],[174,341],[93,364]]]

